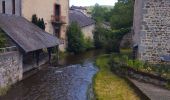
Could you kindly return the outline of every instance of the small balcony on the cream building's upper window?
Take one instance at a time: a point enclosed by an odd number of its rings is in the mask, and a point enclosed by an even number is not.
[[[66,24],[66,16],[51,16],[51,22],[53,24]]]

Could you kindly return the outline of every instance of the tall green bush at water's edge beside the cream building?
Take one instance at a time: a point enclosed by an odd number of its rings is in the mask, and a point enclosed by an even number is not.
[[[69,25],[67,29],[67,51],[74,54],[85,51],[84,36],[76,22]]]

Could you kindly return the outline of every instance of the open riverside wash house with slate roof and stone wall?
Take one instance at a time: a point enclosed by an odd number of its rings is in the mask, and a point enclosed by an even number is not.
[[[0,48],[0,88],[22,80],[24,72],[37,69],[48,59],[50,61],[51,49],[60,44],[57,37],[21,16],[0,14],[0,28],[13,42],[13,47]],[[47,60],[41,55],[42,49],[48,51]]]

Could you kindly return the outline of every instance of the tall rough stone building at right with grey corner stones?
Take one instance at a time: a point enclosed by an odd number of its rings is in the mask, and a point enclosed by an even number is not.
[[[170,56],[170,0],[135,0],[134,50],[143,61]]]

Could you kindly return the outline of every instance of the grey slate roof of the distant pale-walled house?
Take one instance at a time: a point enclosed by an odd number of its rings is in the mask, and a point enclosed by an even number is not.
[[[69,11],[69,23],[72,22],[77,22],[81,28],[95,24],[93,19],[87,17],[85,14],[77,10]]]

